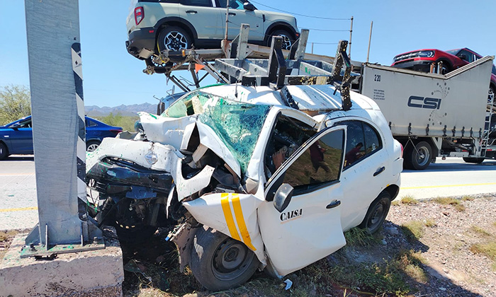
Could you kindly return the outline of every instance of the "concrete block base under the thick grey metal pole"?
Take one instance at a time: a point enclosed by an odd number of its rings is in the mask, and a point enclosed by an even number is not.
[[[123,254],[115,230],[103,230],[106,248],[21,259],[27,234],[14,238],[0,263],[0,296],[122,296]]]

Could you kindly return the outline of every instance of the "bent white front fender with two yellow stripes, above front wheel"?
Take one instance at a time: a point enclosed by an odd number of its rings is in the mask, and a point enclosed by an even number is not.
[[[247,245],[265,266],[264,243],[257,217],[257,209],[263,202],[252,194],[214,193],[183,202],[183,205],[199,223]]]

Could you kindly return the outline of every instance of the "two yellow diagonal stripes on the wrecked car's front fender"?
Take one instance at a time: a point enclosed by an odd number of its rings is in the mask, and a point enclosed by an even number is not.
[[[232,217],[231,206],[229,203],[229,198],[230,198],[229,194],[228,193],[222,193],[222,194],[220,194],[220,197],[221,197],[220,205],[222,206],[222,211],[224,212],[225,222],[227,223],[227,228],[229,228],[229,233],[231,233],[231,237],[234,238],[235,240],[239,240],[239,241],[244,242],[244,244],[247,245],[247,247],[250,250],[257,250],[252,245],[252,238],[249,237],[247,224],[244,222],[243,211],[241,209],[241,202],[239,202],[239,195],[238,194],[232,194],[231,202],[232,202],[232,208],[235,211],[237,226],[239,227],[239,232],[241,232],[242,239],[239,238],[239,233],[237,233],[235,220]]]

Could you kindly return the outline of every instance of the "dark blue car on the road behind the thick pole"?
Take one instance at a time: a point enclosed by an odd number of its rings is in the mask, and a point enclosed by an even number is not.
[[[122,127],[113,127],[86,117],[86,151],[94,151],[105,137],[115,137]],[[0,160],[12,154],[33,154],[33,125],[31,116],[0,127]]]

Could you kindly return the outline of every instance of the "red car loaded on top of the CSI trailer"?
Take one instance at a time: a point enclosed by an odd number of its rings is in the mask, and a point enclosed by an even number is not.
[[[412,69],[422,72],[429,72],[431,64],[434,63],[434,70],[437,71],[437,65],[442,62],[441,74],[447,74],[450,71],[465,66],[468,63],[474,62],[482,58],[480,54],[470,50],[466,47],[457,50],[414,50],[412,52],[405,52],[403,54],[398,54],[393,59],[393,64],[391,66]],[[496,91],[496,67],[492,65],[492,74],[490,81],[490,90],[494,94]]]

